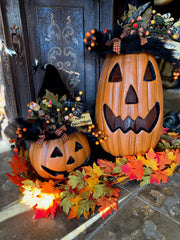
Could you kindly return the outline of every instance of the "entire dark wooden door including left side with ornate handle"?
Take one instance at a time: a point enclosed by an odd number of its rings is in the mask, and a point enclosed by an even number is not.
[[[112,28],[113,0],[2,0],[0,5],[6,42],[13,23],[21,37],[22,58],[9,60],[11,76],[8,73],[17,114],[26,116],[26,104],[35,100],[43,81],[40,67],[48,63],[69,89],[84,92],[87,110],[93,113],[100,61],[85,49],[83,38],[91,28]],[[35,58],[40,67],[33,75]]]

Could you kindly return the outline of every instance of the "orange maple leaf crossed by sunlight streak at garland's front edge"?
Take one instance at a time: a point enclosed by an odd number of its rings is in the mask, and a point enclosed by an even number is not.
[[[97,206],[101,206],[98,211],[101,212],[101,216],[104,219],[108,214],[112,214],[112,209],[118,211],[116,197],[102,196],[96,201]]]

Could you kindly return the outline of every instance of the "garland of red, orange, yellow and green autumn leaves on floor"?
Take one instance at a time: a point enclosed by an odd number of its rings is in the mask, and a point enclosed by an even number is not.
[[[168,139],[168,140],[167,140]],[[173,143],[176,140],[176,147]],[[15,153],[12,162],[12,174],[9,180],[20,186],[22,203],[35,208],[35,218],[55,216],[58,206],[68,219],[94,214],[96,206],[104,219],[112,210],[117,210],[120,189],[117,184],[131,180],[140,182],[140,186],[149,183],[165,183],[180,166],[179,136],[162,138],[160,147],[169,149],[155,152],[150,149],[144,156],[126,156],[116,158],[115,162],[98,159],[92,166],[85,166],[69,174],[64,183],[38,178],[28,166],[27,152],[18,156]]]

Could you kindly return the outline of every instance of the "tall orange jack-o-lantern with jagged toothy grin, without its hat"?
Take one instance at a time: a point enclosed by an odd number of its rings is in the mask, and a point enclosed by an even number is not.
[[[163,126],[163,91],[153,55],[107,55],[95,119],[108,137],[102,147],[114,156],[144,154],[156,146]]]

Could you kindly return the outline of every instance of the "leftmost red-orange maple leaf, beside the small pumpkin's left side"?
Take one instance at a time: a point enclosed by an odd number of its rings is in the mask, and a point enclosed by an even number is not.
[[[12,173],[18,175],[23,172],[27,172],[26,162],[22,161],[17,153],[14,154],[12,161],[9,161],[11,165]]]

